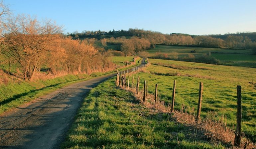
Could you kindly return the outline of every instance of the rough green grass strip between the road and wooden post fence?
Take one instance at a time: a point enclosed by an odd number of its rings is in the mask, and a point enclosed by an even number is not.
[[[84,99],[62,148],[210,149],[224,148],[200,138],[171,115],[144,108],[115,79],[93,88]]]

